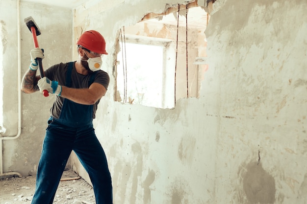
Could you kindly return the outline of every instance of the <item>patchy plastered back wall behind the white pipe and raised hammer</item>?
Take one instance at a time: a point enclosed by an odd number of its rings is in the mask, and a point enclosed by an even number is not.
[[[2,136],[16,136],[18,132],[18,21],[21,30],[21,76],[30,64],[33,38],[24,19],[32,16],[41,35],[39,46],[44,48],[43,67],[72,60],[73,11],[39,3],[20,4],[17,19],[16,0],[0,1],[3,49],[3,126]],[[38,72],[39,73],[39,72]],[[23,176],[35,175],[40,158],[42,141],[47,128],[53,97],[42,97],[39,92],[22,94],[22,134],[18,139],[3,141],[3,172],[19,172]]]

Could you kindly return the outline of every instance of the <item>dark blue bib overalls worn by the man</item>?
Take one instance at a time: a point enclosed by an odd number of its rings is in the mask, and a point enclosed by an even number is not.
[[[66,87],[71,87],[73,62],[69,63]],[[94,74],[89,81],[94,81]],[[96,204],[112,204],[112,181],[102,146],[93,128],[93,105],[64,99],[59,119],[50,118],[36,175],[32,204],[52,204],[57,186],[72,152],[89,174]]]

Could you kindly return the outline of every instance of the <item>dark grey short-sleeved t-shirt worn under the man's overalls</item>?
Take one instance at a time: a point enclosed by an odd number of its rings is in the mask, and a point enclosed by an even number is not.
[[[57,65],[53,65],[50,68],[45,70],[45,76],[49,78],[51,81],[57,81],[59,85],[65,86],[66,83],[66,73],[68,69],[68,63],[60,63]],[[71,76],[71,88],[77,89],[87,89],[88,82],[91,79],[91,75],[94,72],[88,75],[82,75],[77,73],[75,68],[75,63],[73,65],[72,76]],[[99,83],[107,90],[110,78],[108,73],[102,70],[95,71],[95,79],[93,83]],[[65,99],[68,100],[68,99]],[[100,100],[98,100],[93,106],[93,118],[95,118],[95,114],[97,111],[97,105]],[[50,110],[51,115],[54,118],[59,118],[62,106],[63,106],[64,98],[58,95],[55,95],[55,100],[53,106]]]

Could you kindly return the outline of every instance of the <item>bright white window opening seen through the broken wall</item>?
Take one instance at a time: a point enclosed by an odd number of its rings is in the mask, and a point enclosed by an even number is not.
[[[133,43],[120,46],[117,91],[122,102],[126,102],[123,101],[126,96],[127,102],[162,108],[163,46]]]

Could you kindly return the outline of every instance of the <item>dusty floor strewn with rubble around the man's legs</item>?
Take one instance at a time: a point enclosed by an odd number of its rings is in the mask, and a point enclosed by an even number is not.
[[[71,180],[75,179],[75,180]],[[73,170],[63,172],[53,204],[95,204],[94,191]],[[0,204],[30,204],[35,190],[35,176],[0,178]]]

